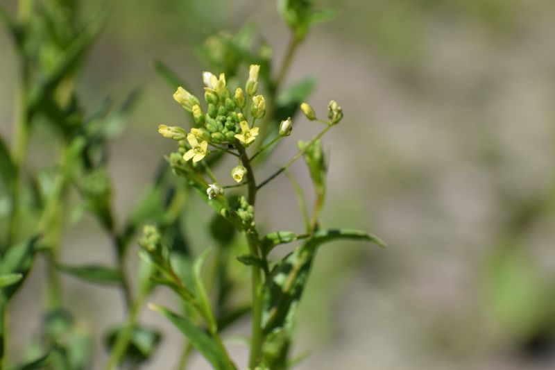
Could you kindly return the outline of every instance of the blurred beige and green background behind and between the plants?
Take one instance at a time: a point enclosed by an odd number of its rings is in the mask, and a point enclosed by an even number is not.
[[[323,115],[334,99],[345,112],[324,140],[330,192],[323,224],[368,230],[389,247],[321,249],[298,321],[296,352],[310,355],[298,369],[554,369],[555,3],[323,4],[341,15],[307,37],[287,78],[314,76],[318,86],[309,102],[316,111]],[[157,125],[185,124],[153,61],[167,62],[198,92],[205,65],[195,49],[207,36],[253,22],[279,62],[289,31],[275,1],[115,0],[110,7],[79,90],[91,109],[106,96],[122,100],[142,90],[128,128],[112,142],[110,175],[121,219],[160,158],[175,149]],[[10,137],[16,70],[1,32],[4,137]],[[291,144],[270,163],[287,160],[294,142],[318,129],[300,116],[294,125]],[[31,145],[29,163],[40,166],[48,142],[35,135]],[[293,167],[309,189],[305,172],[300,162]],[[302,222],[287,178],[268,185],[259,200],[259,222],[278,230]],[[64,262],[111,261],[109,242],[92,219],[68,230]],[[40,326],[41,269],[37,264],[12,303],[14,358]],[[101,332],[121,321],[118,292],[72,278],[64,284],[67,306],[88,318],[84,326]],[[160,291],[153,301],[170,297]],[[147,367],[171,369],[182,337],[146,311],[143,321],[167,333]],[[94,369],[101,369],[106,355],[99,335],[94,345]],[[232,348],[245,364],[246,349]],[[205,367],[196,359],[191,368]]]

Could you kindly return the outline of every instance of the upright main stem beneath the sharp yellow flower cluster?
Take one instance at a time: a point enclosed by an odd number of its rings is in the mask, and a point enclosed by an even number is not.
[[[244,146],[237,144],[237,151],[241,158],[241,162],[247,170],[248,180],[248,203],[255,205],[256,201],[256,180],[253,173],[253,167],[250,165]],[[250,253],[255,257],[259,257],[258,237],[255,232],[247,232],[248,248]],[[250,356],[248,367],[254,369],[262,357],[262,274],[258,266],[251,267],[253,274],[253,330],[250,338]]]

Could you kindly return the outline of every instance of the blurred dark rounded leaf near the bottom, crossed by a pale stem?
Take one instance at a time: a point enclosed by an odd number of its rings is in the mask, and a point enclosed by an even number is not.
[[[110,350],[116,343],[116,340],[123,330],[128,330],[126,326],[121,326],[110,330],[110,333],[105,337],[105,344]],[[145,328],[143,326],[133,327],[133,333],[126,353],[123,355],[123,360],[140,364],[145,362],[156,351],[158,344],[160,344],[162,335],[156,330]]]

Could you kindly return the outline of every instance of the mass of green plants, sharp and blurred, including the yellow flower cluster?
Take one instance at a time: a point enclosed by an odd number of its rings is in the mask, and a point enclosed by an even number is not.
[[[252,315],[249,368],[291,367],[296,362],[290,354],[296,311],[318,246],[337,239],[384,245],[360,230],[321,227],[327,172],[321,138],[340,124],[343,111],[330,101],[327,119],[321,119],[305,103],[316,85],[314,78],[284,87],[296,50],[311,27],[332,19],[336,12],[317,8],[309,0],[278,1],[278,11],[291,30],[278,67],[271,62],[271,47],[255,37],[253,24],[235,35],[222,31],[208,37],[196,51],[212,70],[221,73],[203,73],[205,103],[189,93],[189,85],[167,65],[156,62],[155,69],[175,90],[173,98],[185,108],[191,127],[160,125],[159,132],[176,140],[178,150],[167,156],[169,166],[160,168],[148,192],[120,224],[113,212],[108,143],[123,129],[137,93],[130,94],[120,107],[107,100],[92,114],[83,109],[76,80],[101,31],[105,12],[84,17],[82,6],[80,0],[19,0],[16,15],[0,6],[0,19],[19,59],[15,134],[11,145],[0,138],[0,201],[6,205],[0,214],[0,369],[89,368],[91,333],[64,307],[60,274],[121,290],[125,319],[105,333],[110,352],[106,369],[133,369],[155,353],[162,333],[140,323],[140,314],[160,286],[172,289],[182,308],[175,313],[150,305],[187,337],[176,358],[178,369],[187,366],[194,351],[214,369],[235,369],[223,344],[223,332],[247,314]],[[323,124],[322,131],[307,142],[298,142],[291,160],[271,176],[257,178],[255,169],[266,162],[280,140],[293,133],[299,111]],[[34,170],[26,165],[28,142],[44,133],[53,137],[57,158]],[[228,169],[228,179],[235,183],[223,185],[212,169],[229,156],[237,160]],[[311,212],[288,171],[299,158],[305,160],[314,184]],[[293,183],[305,225],[294,232],[265,233],[255,220],[256,199],[282,173]],[[187,199],[194,190],[216,211],[207,225],[214,247],[200,252],[189,245],[184,226],[184,215],[193,204]],[[78,195],[77,205],[70,202],[72,193]],[[83,212],[92,215],[109,235],[112,266],[60,262],[65,221]],[[130,279],[129,247],[142,226],[141,264],[133,274],[136,278]],[[272,253],[293,242],[299,245],[284,258]],[[40,257],[47,266],[40,340],[29,344],[24,359],[12,360],[6,330],[10,300],[25,287],[26,276]],[[241,289],[245,286],[250,286],[250,294]]]

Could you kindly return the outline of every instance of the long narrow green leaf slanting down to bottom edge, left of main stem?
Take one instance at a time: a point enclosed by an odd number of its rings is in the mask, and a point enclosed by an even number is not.
[[[234,364],[228,360],[227,354],[224,352],[212,337],[207,335],[204,330],[198,328],[192,321],[186,317],[180,317],[171,312],[167,308],[160,305],[149,306],[151,310],[155,310],[164,315],[181,333],[187,336],[187,339],[196,348],[196,350],[204,356],[204,358],[212,364],[216,370],[234,370]]]

